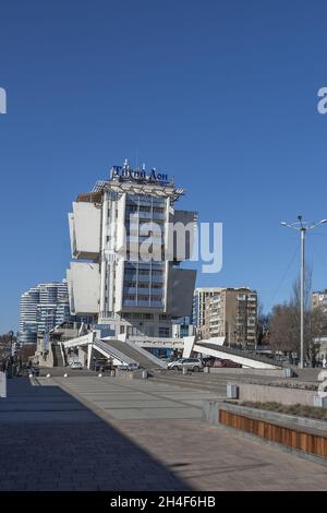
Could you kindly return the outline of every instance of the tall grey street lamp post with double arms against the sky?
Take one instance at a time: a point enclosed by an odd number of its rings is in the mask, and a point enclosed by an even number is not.
[[[308,224],[302,219],[302,215],[298,215],[295,223],[280,223],[281,226],[293,228],[301,234],[301,270],[300,270],[300,368],[304,367],[304,265],[305,265],[305,235],[307,230],[316,226],[324,225],[327,219],[322,219],[318,223]]]

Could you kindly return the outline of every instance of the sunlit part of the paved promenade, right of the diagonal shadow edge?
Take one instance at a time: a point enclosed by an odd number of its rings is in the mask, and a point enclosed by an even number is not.
[[[326,466],[203,422],[213,393],[117,378],[56,381],[195,490],[327,490]]]

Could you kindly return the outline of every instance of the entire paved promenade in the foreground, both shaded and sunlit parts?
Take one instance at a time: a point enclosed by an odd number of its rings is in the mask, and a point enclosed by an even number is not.
[[[10,381],[2,490],[327,490],[327,467],[201,420],[207,391],[72,375]]]

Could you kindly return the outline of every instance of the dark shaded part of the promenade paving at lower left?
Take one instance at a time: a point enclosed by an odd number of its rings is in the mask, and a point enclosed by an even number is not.
[[[84,378],[87,379],[87,378]],[[58,385],[8,380],[0,490],[186,490],[172,472]]]

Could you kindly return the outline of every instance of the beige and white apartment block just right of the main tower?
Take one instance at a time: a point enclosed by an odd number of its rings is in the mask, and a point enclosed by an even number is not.
[[[256,341],[257,294],[247,287],[221,288],[205,300],[202,336],[225,336],[227,344]]]

